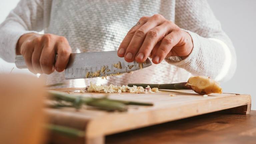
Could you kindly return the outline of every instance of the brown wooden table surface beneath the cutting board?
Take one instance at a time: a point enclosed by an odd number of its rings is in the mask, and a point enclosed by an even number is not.
[[[215,112],[106,137],[107,144],[255,144],[256,111]]]

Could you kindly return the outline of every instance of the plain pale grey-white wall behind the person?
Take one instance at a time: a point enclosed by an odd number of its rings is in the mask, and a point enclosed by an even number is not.
[[[0,23],[19,0],[0,0]],[[237,53],[234,77],[221,83],[224,92],[251,94],[256,110],[256,0],[208,0],[223,30],[230,36]],[[0,72],[10,72],[14,64],[0,58]],[[28,73],[14,68],[13,72]]]

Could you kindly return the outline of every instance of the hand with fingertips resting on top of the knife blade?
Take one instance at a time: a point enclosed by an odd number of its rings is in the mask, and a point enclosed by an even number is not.
[[[147,57],[155,64],[169,56],[187,57],[193,48],[191,36],[160,14],[141,17],[127,33],[118,49],[118,56],[127,62],[144,62]]]

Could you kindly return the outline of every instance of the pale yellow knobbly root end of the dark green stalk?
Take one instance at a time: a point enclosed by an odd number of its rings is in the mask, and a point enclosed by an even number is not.
[[[186,86],[190,86],[198,94],[222,93],[220,83],[206,76],[192,76]]]

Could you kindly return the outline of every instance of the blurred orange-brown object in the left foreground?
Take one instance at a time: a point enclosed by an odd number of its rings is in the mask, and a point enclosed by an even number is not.
[[[43,143],[43,83],[24,74],[0,74],[0,79],[0,143]]]

